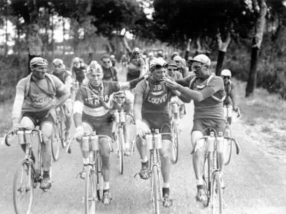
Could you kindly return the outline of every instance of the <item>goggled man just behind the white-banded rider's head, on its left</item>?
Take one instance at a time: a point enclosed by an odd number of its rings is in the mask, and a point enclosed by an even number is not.
[[[82,85],[82,81],[85,78],[86,65],[83,63],[83,60],[79,57],[75,57],[72,60],[70,71],[72,74],[72,79],[77,81],[79,85]]]

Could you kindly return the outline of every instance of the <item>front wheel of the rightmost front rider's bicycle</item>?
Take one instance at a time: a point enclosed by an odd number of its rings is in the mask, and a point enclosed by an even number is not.
[[[212,214],[223,213],[223,192],[218,172],[214,172],[212,179]]]

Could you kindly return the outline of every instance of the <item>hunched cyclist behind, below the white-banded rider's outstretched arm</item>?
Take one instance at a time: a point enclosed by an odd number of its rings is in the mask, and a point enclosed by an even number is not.
[[[126,91],[119,91],[112,94],[112,109],[123,110],[124,112],[133,114],[133,100],[134,95],[126,90]],[[126,120],[124,124],[123,131],[124,131],[124,139],[125,139],[125,151],[124,154],[129,156],[131,154],[130,149],[130,133],[131,133],[131,122]],[[115,134],[115,133],[114,133]]]

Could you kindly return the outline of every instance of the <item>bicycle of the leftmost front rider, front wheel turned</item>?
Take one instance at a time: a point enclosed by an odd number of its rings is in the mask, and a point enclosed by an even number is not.
[[[6,146],[11,146],[8,143],[8,137],[13,135],[10,131],[5,134],[3,142]],[[42,132],[37,129],[20,127],[17,132],[18,143],[25,148],[25,157],[20,162],[13,178],[13,205],[16,214],[29,214],[33,203],[33,189],[41,183],[43,179],[42,168],[42,151],[41,144],[43,143]],[[36,162],[32,152],[32,144],[34,137],[38,136],[38,161]],[[44,192],[46,189],[42,189]],[[26,199],[26,200],[25,200]]]

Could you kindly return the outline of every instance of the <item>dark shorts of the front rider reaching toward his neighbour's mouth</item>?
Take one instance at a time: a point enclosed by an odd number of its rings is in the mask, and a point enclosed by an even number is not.
[[[205,128],[214,128],[219,132],[224,132],[226,123],[224,119],[194,119],[193,131],[203,132]]]

